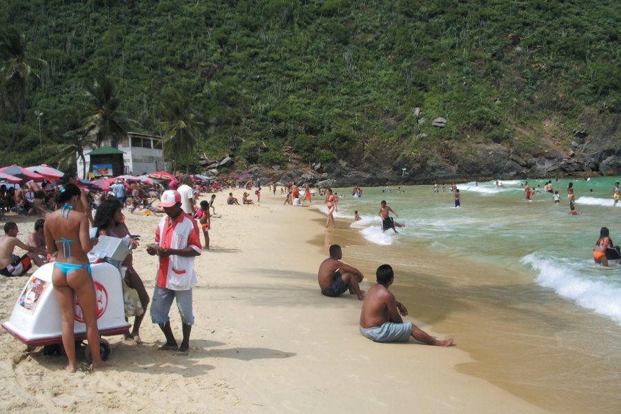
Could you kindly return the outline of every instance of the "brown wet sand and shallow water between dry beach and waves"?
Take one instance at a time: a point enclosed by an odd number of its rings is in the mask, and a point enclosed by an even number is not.
[[[364,266],[379,264],[381,257],[391,264],[397,275],[391,290],[411,318],[424,330],[431,325],[442,333],[438,337],[453,336],[473,358],[457,371],[552,412],[617,411],[618,381],[603,386],[604,378],[615,378],[621,356],[614,351],[614,335],[605,334],[618,331],[613,321],[534,284],[520,266],[438,250],[424,239],[384,246],[359,236],[362,243],[344,250],[345,261]],[[589,337],[600,339],[591,343]],[[597,386],[584,384],[581,366]]]

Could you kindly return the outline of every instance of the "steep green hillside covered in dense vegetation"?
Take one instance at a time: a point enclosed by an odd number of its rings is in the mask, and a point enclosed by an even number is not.
[[[3,0],[41,75],[23,121],[2,90],[3,163],[55,161],[83,88],[112,79],[130,130],[160,133],[168,89],[201,119],[195,150],[240,164],[458,162],[473,144],[569,148],[618,122],[618,0]],[[417,109],[419,108],[419,109]],[[431,125],[437,117],[444,128]],[[14,137],[14,139],[10,139]],[[611,137],[618,140],[618,135]],[[37,150],[33,150],[36,148]],[[390,159],[391,161],[387,161]]]

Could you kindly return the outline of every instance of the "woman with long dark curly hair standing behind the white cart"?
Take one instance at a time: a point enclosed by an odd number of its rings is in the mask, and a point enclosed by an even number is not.
[[[97,227],[97,235],[117,237],[118,239],[123,239],[123,241],[130,248],[138,247],[137,240],[132,239],[129,229],[123,222],[121,203],[117,199],[109,199],[101,203],[99,208],[97,208],[93,226]],[[140,324],[142,323],[142,319],[144,319],[144,315],[146,315],[146,308],[149,304],[149,295],[144,288],[142,279],[136,272],[135,268],[133,268],[132,262],[133,258],[130,253],[122,264],[123,266],[127,266],[124,281],[127,286],[137,290],[143,312],[140,315],[135,315],[132,332],[125,335],[124,341],[128,343],[141,344],[142,341],[140,340],[139,335]]]

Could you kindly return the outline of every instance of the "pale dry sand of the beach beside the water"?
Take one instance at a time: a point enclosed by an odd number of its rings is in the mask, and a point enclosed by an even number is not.
[[[226,191],[228,193],[228,191]],[[196,317],[189,355],[159,351],[164,335],[146,317],[144,344],[127,345],[108,337],[113,366],[105,371],[63,370],[65,357],[43,355],[4,330],[0,379],[6,413],[544,413],[547,411],[478,377],[457,371],[473,362],[457,346],[376,344],[358,332],[359,302],[354,295],[323,297],[317,268],[327,248],[341,243],[344,261],[375,281],[373,260],[358,264],[345,225],[324,228],[316,210],[284,206],[277,193],[264,191],[260,205],[226,206],[218,193],[210,230],[212,250],[197,257]],[[242,198],[243,190],[233,191]],[[207,198],[207,196],[204,196]],[[254,197],[255,198],[255,197]],[[256,201],[256,200],[255,200]],[[315,199],[314,202],[323,200]],[[35,217],[9,215],[26,239]],[[157,216],[126,213],[132,233],[141,235],[135,268],[150,295],[156,261],[146,254]],[[338,224],[338,222],[337,222]],[[32,273],[32,270],[31,272]],[[0,278],[0,319],[8,320],[26,277]],[[432,335],[434,326],[413,321]],[[175,306],[172,329],[181,337]],[[131,322],[131,321],[130,321]],[[79,351],[81,358],[83,350]]]

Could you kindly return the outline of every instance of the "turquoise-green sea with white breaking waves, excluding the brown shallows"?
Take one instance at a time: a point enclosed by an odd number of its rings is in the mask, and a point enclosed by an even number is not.
[[[521,184],[538,188],[533,201],[525,200]],[[520,268],[532,283],[554,290],[585,309],[600,313],[621,325],[621,266],[595,265],[591,257],[600,228],[609,228],[615,244],[621,244],[621,202],[613,208],[613,186],[621,177],[553,180],[562,199],[554,204],[543,193],[546,180],[494,181],[460,184],[460,208],[454,207],[453,193],[433,193],[433,186],[363,188],[362,197],[351,197],[348,188],[339,195],[336,217],[350,219],[358,210],[362,221],[351,224],[368,242],[407,248],[428,244],[446,257],[465,255],[478,261]],[[569,215],[566,187],[573,182],[576,210]],[[593,190],[590,193],[589,190]],[[405,224],[382,233],[377,212],[385,199]],[[325,207],[321,207],[326,211]]]

